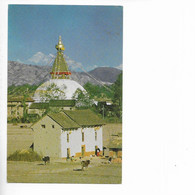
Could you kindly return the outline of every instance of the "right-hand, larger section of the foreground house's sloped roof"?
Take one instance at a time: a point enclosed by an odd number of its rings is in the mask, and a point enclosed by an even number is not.
[[[66,110],[64,113],[80,126],[98,126],[105,122],[91,110]]]

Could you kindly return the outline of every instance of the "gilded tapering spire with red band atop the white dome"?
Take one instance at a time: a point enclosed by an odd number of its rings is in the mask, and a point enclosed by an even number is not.
[[[65,47],[62,43],[61,36],[59,36],[58,44],[55,47],[57,49],[57,56],[53,63],[51,78],[52,79],[69,79],[71,72],[68,70],[67,62],[64,58],[63,51]]]

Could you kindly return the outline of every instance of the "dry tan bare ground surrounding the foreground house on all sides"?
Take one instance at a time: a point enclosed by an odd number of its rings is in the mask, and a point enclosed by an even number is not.
[[[8,124],[7,154],[16,150],[29,149],[33,141],[33,132],[29,124]],[[107,124],[103,130],[103,143],[107,144],[112,134],[122,131],[121,124]],[[10,183],[121,183],[121,163],[107,164],[105,159],[94,157],[85,171],[75,171],[81,168],[80,161],[71,162],[51,160],[47,165],[43,162],[7,162],[7,181]]]

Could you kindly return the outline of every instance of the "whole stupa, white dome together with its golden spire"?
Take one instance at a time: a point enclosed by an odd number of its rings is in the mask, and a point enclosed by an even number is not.
[[[79,83],[70,78],[71,72],[63,54],[65,47],[61,36],[59,36],[59,41],[55,48],[57,49],[57,56],[50,72],[51,79],[37,88],[33,97],[35,102],[47,102],[53,99],[73,100],[76,98],[75,92],[77,89],[85,91]]]

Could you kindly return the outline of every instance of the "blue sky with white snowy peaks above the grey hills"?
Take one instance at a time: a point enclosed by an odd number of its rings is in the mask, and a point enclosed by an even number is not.
[[[50,65],[59,35],[72,69],[122,67],[121,6],[9,5],[8,60]]]

